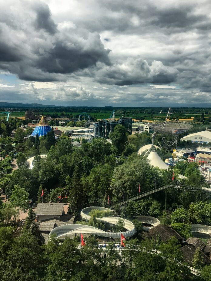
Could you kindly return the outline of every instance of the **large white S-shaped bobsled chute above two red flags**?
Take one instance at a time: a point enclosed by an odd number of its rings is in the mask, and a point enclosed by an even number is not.
[[[101,210],[101,211],[112,211],[108,208],[104,208],[104,207],[87,207],[84,208],[81,211],[81,217],[86,220],[89,221],[91,219],[91,216],[89,215],[89,212],[92,209],[96,209],[96,210]],[[113,211],[112,211],[113,212]],[[113,225],[115,225],[119,218],[118,217],[103,217],[103,218],[96,218],[99,221],[102,221],[104,223],[111,223]],[[134,226],[134,224],[126,219],[123,219],[125,222],[125,228],[127,231],[122,232],[122,235],[125,237],[131,237],[136,233],[136,228]],[[79,234],[79,233],[83,233],[83,234],[89,234],[89,235],[97,235],[97,236],[102,236],[102,237],[107,237],[107,238],[121,238],[121,232],[106,232],[104,230],[101,230],[99,228],[93,227],[93,226],[88,226],[88,225],[83,225],[83,224],[66,224],[66,225],[62,225],[62,226],[58,226],[56,228],[54,228],[53,230],[51,230],[50,234],[56,234],[57,238],[61,237],[61,236],[69,236],[71,234]]]

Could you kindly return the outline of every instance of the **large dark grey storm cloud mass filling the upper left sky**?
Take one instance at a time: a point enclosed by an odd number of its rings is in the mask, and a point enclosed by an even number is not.
[[[110,65],[110,50],[105,50],[98,33],[87,32],[83,38],[70,26],[57,26],[43,2],[16,4],[20,13],[11,11],[8,21],[4,17],[1,22],[0,17],[1,69],[28,81],[56,81],[66,79],[60,74],[71,74],[98,61]],[[17,24],[11,25],[11,20]]]

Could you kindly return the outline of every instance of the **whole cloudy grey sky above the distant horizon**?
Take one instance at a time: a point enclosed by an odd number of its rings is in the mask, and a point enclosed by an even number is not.
[[[0,0],[0,101],[211,107],[210,0]]]

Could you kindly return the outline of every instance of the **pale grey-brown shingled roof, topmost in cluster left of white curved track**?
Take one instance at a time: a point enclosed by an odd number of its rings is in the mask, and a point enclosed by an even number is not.
[[[38,203],[35,214],[36,215],[54,215],[61,216],[63,212],[63,203]]]

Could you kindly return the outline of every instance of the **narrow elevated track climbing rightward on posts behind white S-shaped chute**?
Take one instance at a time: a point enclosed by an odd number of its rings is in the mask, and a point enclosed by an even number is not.
[[[160,186],[158,188],[153,188],[153,189],[150,189],[150,190],[147,190],[145,192],[142,192],[138,195],[134,195],[133,197],[130,197],[129,199],[127,200],[121,200],[119,202],[116,202],[116,204],[118,204],[119,206],[122,206],[130,201],[135,201],[137,199],[140,199],[140,198],[143,198],[145,196],[148,196],[148,195],[151,195],[153,193],[156,193],[156,192],[159,192],[160,190],[165,190],[167,188],[170,188],[170,187],[184,187],[185,190],[189,190],[189,191],[203,191],[203,192],[211,192],[211,188],[208,188],[208,187],[193,187],[193,186],[190,186],[190,185],[185,185],[185,184],[169,184],[169,185],[163,185],[163,186]],[[115,204],[115,205],[116,205]],[[115,207],[115,205],[112,205],[111,207],[109,207],[109,209],[113,209]]]

